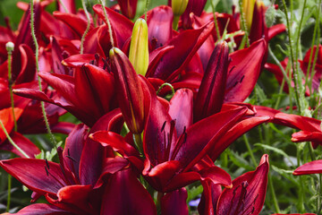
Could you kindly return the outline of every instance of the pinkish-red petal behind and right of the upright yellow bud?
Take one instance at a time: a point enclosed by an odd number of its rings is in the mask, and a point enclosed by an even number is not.
[[[148,40],[154,47],[163,47],[173,37],[174,13],[171,7],[161,5],[148,12]]]

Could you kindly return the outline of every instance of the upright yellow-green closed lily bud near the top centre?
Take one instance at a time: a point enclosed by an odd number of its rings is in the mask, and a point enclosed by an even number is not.
[[[144,19],[135,22],[132,35],[129,59],[136,73],[145,75],[148,70],[148,25]]]

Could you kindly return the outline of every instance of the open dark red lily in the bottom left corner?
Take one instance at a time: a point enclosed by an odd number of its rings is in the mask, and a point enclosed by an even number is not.
[[[111,117],[106,117],[107,125],[114,124],[108,118]],[[94,131],[99,126],[93,127]],[[128,161],[120,157],[106,158],[106,150],[95,142],[86,141],[87,135],[86,126],[75,127],[66,140],[65,149],[57,150],[60,165],[41,159],[9,159],[0,161],[0,166],[37,193],[35,198],[45,195],[48,202],[65,211],[97,214],[101,198],[97,189],[104,185],[103,176],[125,168]]]

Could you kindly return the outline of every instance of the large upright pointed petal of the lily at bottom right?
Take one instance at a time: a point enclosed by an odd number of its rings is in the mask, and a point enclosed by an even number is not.
[[[258,215],[266,191],[269,164],[268,155],[263,155],[258,168],[233,180],[233,188],[225,189],[217,204],[217,215]]]

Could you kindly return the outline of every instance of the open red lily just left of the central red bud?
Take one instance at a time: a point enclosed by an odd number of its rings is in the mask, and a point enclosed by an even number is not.
[[[32,89],[16,89],[13,90],[14,93],[63,107],[89,126],[113,109],[111,102],[114,98],[114,78],[95,65],[82,65],[76,69],[74,77],[49,73],[39,73],[39,76],[53,86],[60,96],[64,96],[64,99],[49,98],[45,93]]]

